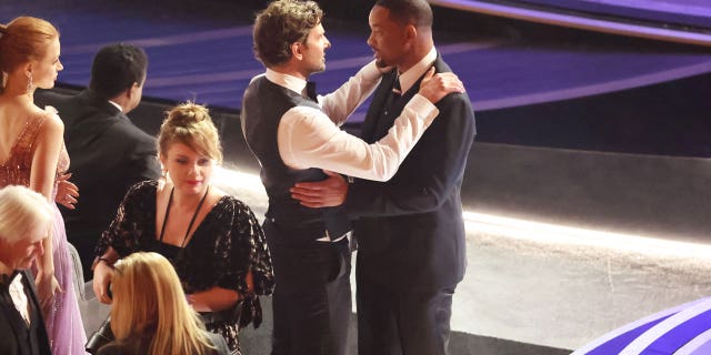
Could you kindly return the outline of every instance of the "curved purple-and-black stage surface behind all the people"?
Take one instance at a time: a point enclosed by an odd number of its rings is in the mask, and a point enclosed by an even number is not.
[[[251,52],[251,20],[267,1],[247,0],[253,6],[240,8],[226,0],[182,0],[170,9],[146,2],[124,7],[63,1],[71,6],[49,0],[3,4],[0,20],[32,13],[58,24],[66,67],[59,79],[64,87],[87,84],[91,57],[101,44],[128,41],[149,52],[148,99],[193,99],[237,116],[243,88],[263,71]],[[592,1],[607,0],[578,2]],[[321,2],[334,44],[328,52],[328,71],[314,78],[324,93],[371,59],[364,21],[371,2]],[[477,111],[478,141],[711,155],[703,136],[710,131],[709,50],[441,6],[434,11],[438,49],[467,84]],[[89,27],[94,30],[87,32]],[[138,121],[153,131],[162,114],[150,116]],[[231,124],[226,121],[227,131]]]

